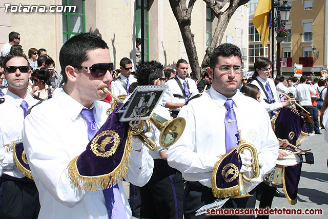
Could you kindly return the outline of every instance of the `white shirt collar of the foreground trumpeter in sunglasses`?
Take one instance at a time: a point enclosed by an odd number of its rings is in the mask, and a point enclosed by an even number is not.
[[[68,95],[64,89],[61,89],[59,93],[57,94],[57,101],[61,107],[65,109],[65,112],[69,115],[72,121],[75,121],[76,118],[80,115],[81,110],[87,109],[82,104],[78,103],[73,99],[70,95]],[[95,108],[93,111],[93,114],[95,116],[95,121],[98,121],[96,118],[97,112],[100,109],[98,106],[99,104],[97,102],[93,102],[90,109]]]

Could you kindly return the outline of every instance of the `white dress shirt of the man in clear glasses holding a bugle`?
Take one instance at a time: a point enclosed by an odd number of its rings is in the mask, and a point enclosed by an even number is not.
[[[263,174],[275,167],[279,149],[277,137],[267,111],[259,102],[239,90],[232,99],[241,138],[256,147],[259,163],[263,164],[258,178],[260,180]],[[182,172],[187,181],[198,181],[211,188],[214,164],[220,159],[219,155],[226,154],[226,100],[227,97],[211,87],[178,114],[186,119],[186,128],[179,140],[169,148],[167,159],[169,165]],[[249,173],[245,176],[249,177]],[[244,181],[247,191],[257,184]]]

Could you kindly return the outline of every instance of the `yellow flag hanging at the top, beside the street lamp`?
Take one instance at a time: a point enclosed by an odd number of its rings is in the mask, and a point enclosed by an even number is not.
[[[267,46],[270,34],[271,0],[259,0],[253,16],[253,24],[261,35],[262,46]]]

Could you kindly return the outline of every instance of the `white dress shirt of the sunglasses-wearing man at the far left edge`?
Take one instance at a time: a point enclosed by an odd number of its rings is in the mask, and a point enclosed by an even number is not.
[[[25,99],[22,99],[9,90],[4,97],[5,102],[0,104],[0,160],[2,162],[3,173],[16,178],[23,178],[25,175],[17,169],[12,155],[12,149],[10,150],[8,147],[4,148],[2,145],[22,139],[24,121],[24,111],[20,107],[22,101],[26,101],[29,108],[39,101],[34,99],[29,93],[27,93]]]

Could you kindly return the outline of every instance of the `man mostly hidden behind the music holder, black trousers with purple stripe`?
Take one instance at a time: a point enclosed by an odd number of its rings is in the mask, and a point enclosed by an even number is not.
[[[164,85],[163,65],[156,62],[146,62],[136,70],[139,85]],[[170,112],[160,105],[155,113],[171,120]],[[149,182],[140,187],[141,218],[183,218],[182,174],[170,167],[166,161],[168,148],[159,146],[159,135],[155,125],[151,124],[151,139],[157,144],[156,151],[149,153],[154,159],[154,171]]]

